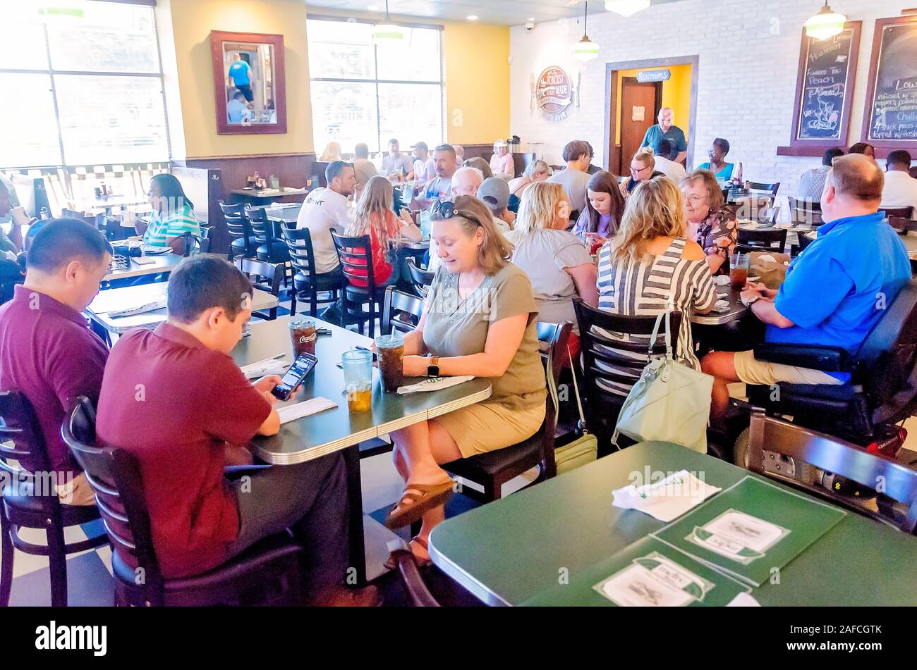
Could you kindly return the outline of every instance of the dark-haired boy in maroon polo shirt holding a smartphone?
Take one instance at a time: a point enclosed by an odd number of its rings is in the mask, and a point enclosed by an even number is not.
[[[164,577],[206,572],[293,527],[305,538],[310,601],[373,604],[374,588],[341,586],[348,514],[339,454],[237,481],[224,475],[227,448],[280,430],[271,394],[280,378],[250,384],[228,355],[251,318],[250,297],[248,278],[226,261],[183,261],[169,280],[169,319],[112,348],[96,435],[138,459]]]

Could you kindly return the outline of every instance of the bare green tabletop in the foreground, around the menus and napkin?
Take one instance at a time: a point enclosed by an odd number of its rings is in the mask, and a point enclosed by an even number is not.
[[[678,470],[720,488],[750,474],[679,445],[644,442],[448,519],[430,535],[430,556],[489,604],[605,604],[591,590],[610,576],[603,564],[666,525],[613,507],[612,491],[635,473]],[[752,596],[762,605],[915,605],[915,573],[917,538],[847,513],[781,570],[779,584]]]

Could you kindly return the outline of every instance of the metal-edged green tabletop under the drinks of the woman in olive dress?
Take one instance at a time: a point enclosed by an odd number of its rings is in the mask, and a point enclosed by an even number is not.
[[[293,362],[289,317],[260,321],[251,325],[251,335],[243,338],[232,351],[238,365],[270,358],[284,352]],[[407,395],[382,392],[379,371],[373,371],[372,408],[370,412],[351,414],[344,393],[344,372],[337,367],[341,354],[357,346],[369,346],[370,338],[351,330],[337,328],[316,319],[320,327],[332,331],[319,335],[315,346],[318,364],[303,384],[303,389],[289,403],[315,396],[337,402],[337,408],[304,416],[281,427],[271,438],[255,438],[253,446],[260,459],[269,463],[290,465],[317,459],[333,451],[386,435],[392,430],[411,426],[441,416],[460,407],[474,405],[491,395],[486,379],[472,379],[441,391]],[[414,380],[407,378],[405,384]]]

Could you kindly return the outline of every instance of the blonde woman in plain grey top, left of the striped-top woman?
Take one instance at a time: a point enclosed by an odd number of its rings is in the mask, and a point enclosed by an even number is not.
[[[570,203],[560,184],[539,182],[525,189],[516,217],[513,263],[532,282],[538,320],[569,321],[574,332],[573,298],[581,297],[592,307],[599,304],[597,271],[580,238],[567,231]],[[579,337],[570,340],[570,351],[580,351]]]

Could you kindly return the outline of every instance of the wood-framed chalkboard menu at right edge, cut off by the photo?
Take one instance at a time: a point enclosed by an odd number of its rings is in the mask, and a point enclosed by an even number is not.
[[[863,130],[875,146],[917,143],[917,16],[876,21]]]

